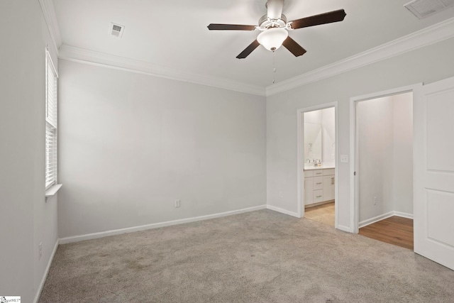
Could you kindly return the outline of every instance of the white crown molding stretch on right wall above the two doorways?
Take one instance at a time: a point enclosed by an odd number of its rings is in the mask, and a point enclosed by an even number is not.
[[[290,89],[304,86],[306,84],[339,75],[343,72],[355,70],[372,63],[386,60],[390,57],[423,48],[424,46],[438,43],[442,40],[454,37],[454,18],[450,18],[441,23],[416,31],[402,38],[392,40],[376,48],[371,48],[363,53],[345,58],[331,65],[326,65],[303,75],[284,80],[277,84],[266,87],[266,96],[286,92]]]

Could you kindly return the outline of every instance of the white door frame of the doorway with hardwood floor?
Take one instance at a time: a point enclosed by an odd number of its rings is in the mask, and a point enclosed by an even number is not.
[[[358,172],[358,138],[356,136],[358,133],[358,116],[356,114],[356,106],[360,101],[414,92],[417,87],[422,86],[423,83],[417,83],[350,98],[350,226],[353,233],[359,232],[359,182],[358,174],[356,174]]]

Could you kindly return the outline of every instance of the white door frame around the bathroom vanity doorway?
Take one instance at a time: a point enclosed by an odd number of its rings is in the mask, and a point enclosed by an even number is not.
[[[338,101],[297,109],[297,214],[299,218],[304,217],[304,186],[302,186],[304,182],[304,113],[331,107],[334,107],[334,127],[336,128],[334,138],[336,143],[334,145],[334,161],[336,162],[336,169],[334,170],[334,227],[338,228]]]

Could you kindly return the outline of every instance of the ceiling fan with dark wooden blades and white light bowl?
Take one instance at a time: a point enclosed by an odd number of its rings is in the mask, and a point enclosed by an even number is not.
[[[289,31],[297,28],[307,28],[309,26],[343,21],[346,16],[343,9],[338,9],[337,11],[329,11],[287,22],[287,17],[282,14],[284,0],[268,0],[266,7],[267,14],[260,18],[258,21],[259,26],[211,23],[208,29],[210,31],[260,31],[257,39],[253,43],[250,43],[240,55],[236,56],[238,59],[248,57],[255,48],[258,48],[258,45],[263,45],[267,50],[271,50],[272,52],[280,48],[281,45],[284,45],[284,48],[287,48],[290,53],[298,57],[304,55],[306,50],[289,37]]]

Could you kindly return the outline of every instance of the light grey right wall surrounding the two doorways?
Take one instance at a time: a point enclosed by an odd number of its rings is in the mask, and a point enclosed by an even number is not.
[[[350,155],[350,97],[453,77],[453,49],[451,38],[267,97],[267,204],[297,212],[297,109],[338,101],[338,153]],[[336,163],[336,169],[338,224],[350,228],[353,172],[350,163]]]

